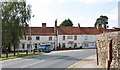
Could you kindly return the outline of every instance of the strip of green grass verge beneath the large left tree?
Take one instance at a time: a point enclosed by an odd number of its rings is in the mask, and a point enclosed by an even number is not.
[[[14,53],[9,53],[8,58],[6,58],[6,54],[2,54],[2,58],[0,58],[0,61],[2,60],[8,60],[8,59],[14,59],[14,58],[19,58],[19,57],[25,57],[25,56],[30,56],[30,55],[41,55],[43,52],[28,52],[28,55],[26,55],[26,52],[16,52],[16,56],[14,56]]]

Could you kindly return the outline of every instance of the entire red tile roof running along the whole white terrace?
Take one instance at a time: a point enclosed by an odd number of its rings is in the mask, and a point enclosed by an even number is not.
[[[101,29],[97,30],[96,27],[61,27],[58,26],[58,34],[67,34],[67,35],[75,35],[75,34],[101,34],[104,32],[113,32],[117,31],[115,29]],[[30,30],[28,30],[27,35],[30,34]],[[31,27],[31,35],[55,35],[54,27]]]

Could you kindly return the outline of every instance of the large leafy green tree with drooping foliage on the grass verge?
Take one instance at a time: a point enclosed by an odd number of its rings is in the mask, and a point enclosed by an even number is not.
[[[2,40],[3,49],[8,51],[11,46],[15,49],[19,46],[20,39],[25,35],[31,18],[31,8],[26,2],[3,2],[2,3]]]

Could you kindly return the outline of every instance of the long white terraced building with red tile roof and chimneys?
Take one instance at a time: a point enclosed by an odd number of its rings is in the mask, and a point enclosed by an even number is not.
[[[96,37],[103,32],[114,32],[116,29],[105,29],[102,25],[95,27],[30,27],[26,39],[20,41],[19,50],[33,50],[42,43],[50,43],[52,49],[95,48]]]

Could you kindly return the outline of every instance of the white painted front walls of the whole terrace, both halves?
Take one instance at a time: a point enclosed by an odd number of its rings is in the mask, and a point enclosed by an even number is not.
[[[35,44],[37,46],[42,43],[52,43],[52,48],[54,48],[54,42],[55,42],[55,36],[39,36],[40,40],[36,40],[36,37],[39,35],[32,35],[32,48],[29,49],[34,49]],[[63,36],[65,36],[65,40],[63,40]],[[68,36],[72,36],[73,38],[67,39]],[[87,34],[82,34],[82,35],[76,35],[77,40],[74,40],[75,35],[58,35],[58,46],[59,43],[61,44],[62,48],[62,43],[65,43],[66,48],[74,48],[74,43],[77,43],[77,47],[79,48],[82,46],[83,48],[91,48],[95,47],[95,41],[96,41],[96,36],[97,35],[87,35]],[[52,37],[52,40],[49,41],[49,37]],[[73,41],[73,44],[69,44],[69,41]],[[88,46],[85,46],[85,43],[88,44]],[[25,49],[22,49],[22,44],[25,44]],[[30,41],[28,41],[28,36],[26,36],[26,40],[20,40],[20,50],[27,50],[27,44],[30,44]]]

